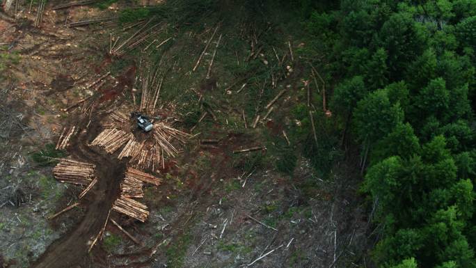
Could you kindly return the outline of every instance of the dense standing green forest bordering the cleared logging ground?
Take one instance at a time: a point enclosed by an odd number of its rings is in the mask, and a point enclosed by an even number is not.
[[[376,266],[475,267],[476,1],[343,0],[306,26],[338,78],[338,127],[370,148]]]

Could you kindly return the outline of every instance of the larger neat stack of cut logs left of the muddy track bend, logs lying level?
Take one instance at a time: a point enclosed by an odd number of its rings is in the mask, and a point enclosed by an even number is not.
[[[93,180],[94,168],[93,164],[71,159],[61,159],[53,168],[53,175],[60,182],[88,185]]]

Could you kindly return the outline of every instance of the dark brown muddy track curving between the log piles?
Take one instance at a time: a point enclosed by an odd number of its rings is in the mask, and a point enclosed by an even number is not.
[[[84,120],[81,126],[86,125]],[[104,226],[108,212],[120,191],[120,180],[125,172],[125,162],[118,161],[106,152],[90,148],[90,138],[101,129],[99,120],[91,123],[88,132],[80,132],[74,139],[70,153],[74,159],[88,161],[96,165],[95,174],[99,182],[88,193],[86,214],[70,231],[53,242],[33,263],[37,268],[81,267],[88,262],[88,242],[97,235]],[[86,197],[85,197],[86,198]],[[83,200],[84,203],[84,200]],[[98,243],[99,244],[99,243]],[[97,245],[96,245],[97,246]]]

